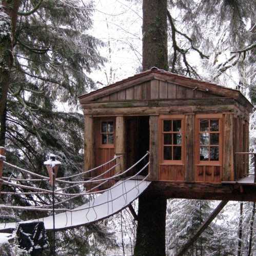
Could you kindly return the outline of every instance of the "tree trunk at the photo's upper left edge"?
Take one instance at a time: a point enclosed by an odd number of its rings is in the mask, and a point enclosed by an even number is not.
[[[17,22],[19,0],[2,1],[5,15],[0,27],[0,146],[5,146],[7,94],[10,84],[10,74],[13,67],[13,44]]]

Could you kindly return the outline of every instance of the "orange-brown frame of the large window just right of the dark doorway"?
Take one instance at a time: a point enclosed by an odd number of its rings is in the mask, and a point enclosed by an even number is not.
[[[164,121],[165,120],[181,120],[181,160],[164,160],[164,134],[173,132],[164,132]],[[160,165],[184,165],[185,162],[185,115],[160,115],[159,118],[159,155]],[[174,132],[175,133],[175,132]],[[173,143],[173,142],[172,142]],[[173,148],[173,144],[172,144]]]

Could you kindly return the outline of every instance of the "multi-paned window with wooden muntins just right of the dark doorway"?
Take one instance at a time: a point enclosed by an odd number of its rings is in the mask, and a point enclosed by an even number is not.
[[[183,159],[183,119],[167,119],[162,122],[162,160],[169,163],[182,163]]]

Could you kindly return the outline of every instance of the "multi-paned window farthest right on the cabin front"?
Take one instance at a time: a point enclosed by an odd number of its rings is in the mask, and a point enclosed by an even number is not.
[[[205,115],[207,117],[207,115]],[[221,161],[221,127],[220,115],[204,116],[197,119],[198,122],[198,162],[219,163]]]

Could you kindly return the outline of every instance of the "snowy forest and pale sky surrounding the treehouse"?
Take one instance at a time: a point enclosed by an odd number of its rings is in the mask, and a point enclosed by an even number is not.
[[[169,71],[239,89],[255,104],[256,1],[170,0],[168,9]],[[1,1],[0,141],[9,162],[45,173],[43,162],[54,153],[62,162],[60,176],[81,171],[84,121],[77,96],[140,72],[142,37],[140,0]],[[255,150],[254,113],[250,131],[250,150]],[[29,178],[11,168],[5,174]],[[16,189],[3,186],[3,191]],[[51,198],[13,195],[1,200],[31,206]],[[216,203],[168,202],[168,255],[186,243]],[[253,203],[229,202],[187,255],[253,255],[254,213]],[[1,210],[0,218],[26,220],[33,214]],[[58,232],[56,251],[129,255],[135,230],[136,222],[124,210],[103,222]]]

